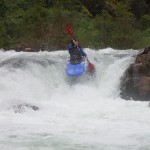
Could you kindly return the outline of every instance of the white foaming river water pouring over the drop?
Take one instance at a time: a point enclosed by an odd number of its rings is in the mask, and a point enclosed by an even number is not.
[[[148,102],[119,96],[138,51],[85,52],[95,77],[72,84],[65,51],[0,51],[0,150],[150,150]]]

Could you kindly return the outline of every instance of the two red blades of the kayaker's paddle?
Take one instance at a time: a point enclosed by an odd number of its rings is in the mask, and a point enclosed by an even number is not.
[[[72,32],[72,29],[71,29],[71,27],[68,24],[66,25],[66,30],[67,30],[68,34],[71,36],[71,38],[74,39],[74,35],[73,35],[73,32]],[[87,61],[89,63],[89,65],[88,65],[89,70],[91,72],[95,72],[95,66],[89,61],[88,58],[87,58]]]

